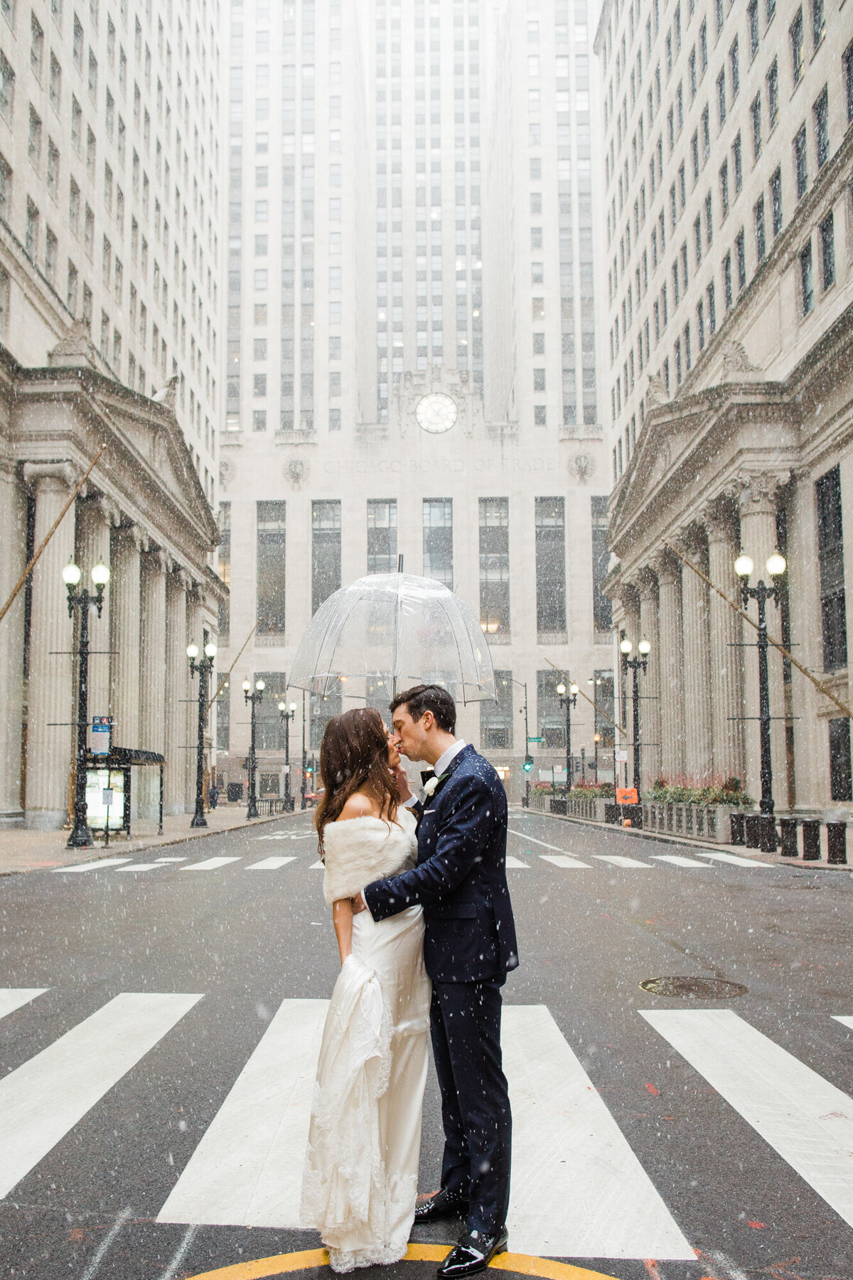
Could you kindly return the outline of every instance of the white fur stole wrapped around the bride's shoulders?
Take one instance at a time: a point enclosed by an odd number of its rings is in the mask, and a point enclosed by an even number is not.
[[[414,867],[416,826],[414,814],[402,806],[396,810],[396,823],[381,818],[330,822],[322,833],[322,891],[329,906],[340,897],[354,897],[371,881]]]

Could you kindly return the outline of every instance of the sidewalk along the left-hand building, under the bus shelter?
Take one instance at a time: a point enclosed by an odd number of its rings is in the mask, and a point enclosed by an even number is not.
[[[281,822],[293,814],[274,814],[271,818],[246,820],[246,805],[233,805],[214,809],[205,814],[207,827],[191,828],[191,813],[179,813],[162,819],[162,835],[157,833],[155,819],[139,818],[133,823],[133,835],[110,835],[110,847],[106,856],[115,854],[136,854],[142,849],[155,849],[161,845],[179,845],[188,840],[203,840],[206,836],[219,836],[224,831],[237,831],[239,827],[257,827],[269,822]],[[36,872],[54,867],[72,867],[74,863],[88,863],[104,858],[104,841],[97,840],[92,849],[68,849],[68,831],[0,831],[0,876],[14,876],[17,872]]]

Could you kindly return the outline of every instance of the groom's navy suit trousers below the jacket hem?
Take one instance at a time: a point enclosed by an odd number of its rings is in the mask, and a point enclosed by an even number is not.
[[[441,1187],[468,1197],[469,1230],[506,1221],[512,1116],[501,1068],[501,982],[434,982],[430,1032],[444,1121]]]

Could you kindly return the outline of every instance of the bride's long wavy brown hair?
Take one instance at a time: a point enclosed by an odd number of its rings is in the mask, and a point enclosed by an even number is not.
[[[329,721],[320,746],[320,777],[325,790],[315,827],[321,855],[324,827],[340,817],[361,787],[372,792],[380,813],[387,813],[387,820],[394,822],[398,791],[387,763],[387,731],[375,707],[356,707]]]

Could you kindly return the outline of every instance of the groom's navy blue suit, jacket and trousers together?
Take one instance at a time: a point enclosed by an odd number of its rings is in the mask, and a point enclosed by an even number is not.
[[[423,906],[431,1033],[441,1089],[441,1185],[469,1199],[468,1226],[506,1220],[512,1119],[500,1053],[500,988],[518,965],[506,887],[506,792],[464,746],[419,813],[417,867],[364,888],[375,920]]]

